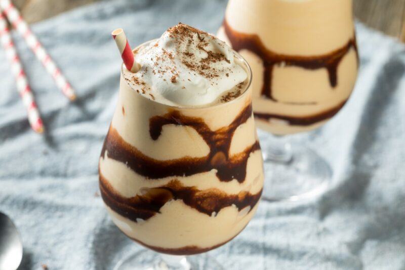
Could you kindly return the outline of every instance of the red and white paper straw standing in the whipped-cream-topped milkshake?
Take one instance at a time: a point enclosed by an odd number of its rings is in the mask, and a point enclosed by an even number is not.
[[[119,53],[123,58],[124,64],[128,70],[135,73],[141,68],[137,62],[135,62],[134,53],[132,52],[131,46],[128,42],[127,36],[122,28],[115,29],[111,33],[112,38],[114,38],[117,44]]]

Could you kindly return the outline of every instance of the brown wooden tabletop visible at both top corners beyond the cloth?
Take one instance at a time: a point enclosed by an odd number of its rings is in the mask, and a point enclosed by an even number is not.
[[[99,0],[14,0],[28,22],[37,22]],[[363,23],[405,42],[405,0],[353,0]]]

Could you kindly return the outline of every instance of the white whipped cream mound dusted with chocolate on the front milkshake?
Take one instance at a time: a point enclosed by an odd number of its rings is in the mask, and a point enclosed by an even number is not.
[[[142,68],[125,79],[138,93],[175,106],[227,102],[240,95],[248,73],[227,44],[207,32],[181,24],[140,47]]]

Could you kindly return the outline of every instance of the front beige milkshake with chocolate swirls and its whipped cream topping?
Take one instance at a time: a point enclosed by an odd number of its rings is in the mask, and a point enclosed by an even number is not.
[[[155,251],[194,254],[245,228],[263,188],[249,66],[190,26],[134,50],[100,157],[116,226]]]

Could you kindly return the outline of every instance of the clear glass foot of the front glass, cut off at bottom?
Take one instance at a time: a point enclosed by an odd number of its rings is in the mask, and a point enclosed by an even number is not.
[[[176,256],[144,249],[120,260],[114,270],[223,270],[222,266],[206,253]]]

